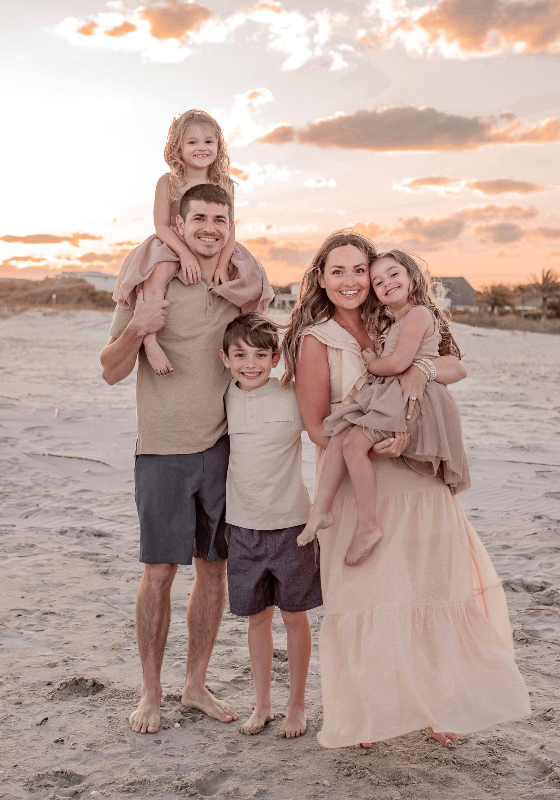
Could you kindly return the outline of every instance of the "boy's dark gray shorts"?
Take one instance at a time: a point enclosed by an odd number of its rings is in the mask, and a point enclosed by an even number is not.
[[[277,606],[307,611],[322,605],[317,539],[298,547],[305,526],[252,530],[232,525],[228,541],[230,611],[250,617]]]

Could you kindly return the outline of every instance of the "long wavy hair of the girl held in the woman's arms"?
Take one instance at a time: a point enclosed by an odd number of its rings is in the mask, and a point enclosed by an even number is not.
[[[422,270],[422,267],[418,264],[414,256],[410,253],[406,253],[405,250],[387,250],[386,253],[379,253],[376,261],[380,258],[394,258],[398,264],[404,266],[406,272],[410,275],[410,305],[426,306],[426,308],[430,309],[431,313],[434,314],[439,333],[442,337],[442,341],[439,344],[439,354],[455,355],[457,358],[462,358],[462,352],[453,335],[450,313],[442,309],[441,306],[438,306],[438,301],[434,295],[433,287],[438,283],[438,279],[430,278],[425,270]],[[383,306],[382,303],[378,301],[377,295],[374,294],[374,298],[374,326],[377,331],[375,350],[379,355],[382,342],[385,340],[386,334],[394,322],[394,317],[393,314],[390,314],[387,306]]]

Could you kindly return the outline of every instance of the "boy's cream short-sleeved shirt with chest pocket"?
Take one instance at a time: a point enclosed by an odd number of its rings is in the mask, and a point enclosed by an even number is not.
[[[226,522],[252,530],[303,525],[311,501],[302,477],[302,415],[294,385],[245,392],[232,380],[226,391],[230,465]]]

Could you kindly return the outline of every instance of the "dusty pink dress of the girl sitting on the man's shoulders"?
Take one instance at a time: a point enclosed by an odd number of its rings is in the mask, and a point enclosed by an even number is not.
[[[175,226],[179,202],[171,204],[170,228],[184,241]],[[155,234],[126,256],[113,293],[113,299],[118,306],[134,308],[138,286],[150,277],[154,266],[162,261],[176,262],[179,268],[178,255]],[[177,274],[177,270],[174,274]],[[274,291],[266,278],[263,266],[238,242],[235,242],[231,256],[230,278],[229,282],[220,286],[211,286],[210,291],[238,306],[242,314],[246,311],[266,311],[270,300],[274,297]]]

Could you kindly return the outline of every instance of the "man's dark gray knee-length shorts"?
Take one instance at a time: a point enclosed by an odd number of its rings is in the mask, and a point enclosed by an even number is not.
[[[138,455],[134,490],[140,561],[192,564],[227,558],[226,476],[230,438],[186,455]]]

